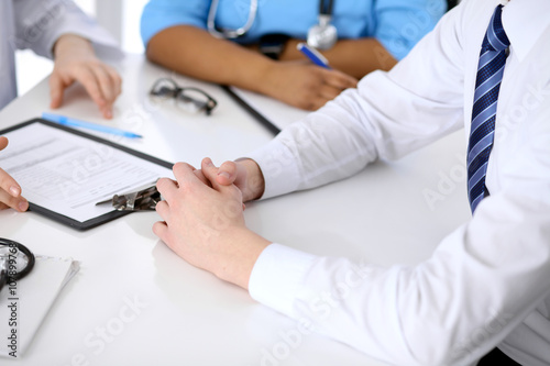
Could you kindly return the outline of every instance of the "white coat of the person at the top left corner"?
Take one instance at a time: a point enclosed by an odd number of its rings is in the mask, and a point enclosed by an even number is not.
[[[52,58],[57,38],[72,33],[90,40],[96,52],[120,55],[117,42],[70,0],[1,0],[0,19],[0,109],[18,96],[18,48]]]

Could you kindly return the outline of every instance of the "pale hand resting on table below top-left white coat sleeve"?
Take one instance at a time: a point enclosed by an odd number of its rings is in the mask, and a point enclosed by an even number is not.
[[[50,77],[51,108],[61,107],[64,90],[79,81],[103,118],[112,118],[112,104],[121,92],[122,79],[96,57],[89,41],[74,34],[62,35],[54,46],[54,59]]]

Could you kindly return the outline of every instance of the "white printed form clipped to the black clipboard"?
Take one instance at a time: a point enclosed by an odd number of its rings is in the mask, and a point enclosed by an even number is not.
[[[41,123],[4,134],[0,167],[30,202],[84,222],[112,211],[96,202],[153,185],[172,170],[116,147]]]

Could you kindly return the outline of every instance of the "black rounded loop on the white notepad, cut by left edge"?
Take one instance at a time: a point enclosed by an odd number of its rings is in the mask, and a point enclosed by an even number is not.
[[[0,237],[0,291],[20,280],[34,267],[34,254],[18,242]]]

